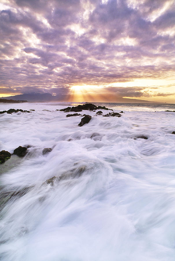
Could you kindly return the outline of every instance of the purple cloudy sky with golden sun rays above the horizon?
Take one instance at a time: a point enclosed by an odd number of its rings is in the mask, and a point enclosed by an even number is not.
[[[0,0],[0,97],[175,103],[174,0]]]

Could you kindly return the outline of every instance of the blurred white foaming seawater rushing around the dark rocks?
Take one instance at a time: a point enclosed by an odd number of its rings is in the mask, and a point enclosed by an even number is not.
[[[124,113],[82,127],[69,105],[0,104],[35,109],[0,115],[0,151],[30,145],[0,165],[0,260],[174,261],[175,105],[96,104]]]

